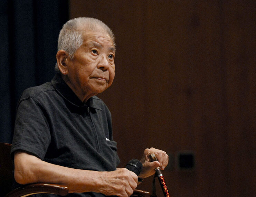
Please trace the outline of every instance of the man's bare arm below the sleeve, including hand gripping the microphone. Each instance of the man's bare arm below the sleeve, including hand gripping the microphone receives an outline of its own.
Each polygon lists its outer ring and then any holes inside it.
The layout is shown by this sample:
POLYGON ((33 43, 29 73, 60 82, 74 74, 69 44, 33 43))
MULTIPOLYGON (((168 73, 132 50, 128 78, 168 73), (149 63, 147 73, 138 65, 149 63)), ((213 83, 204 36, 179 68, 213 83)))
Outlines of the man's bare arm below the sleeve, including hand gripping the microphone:
POLYGON ((126 168, 112 172, 81 170, 50 164, 25 152, 14 156, 15 180, 19 184, 56 183, 69 188, 69 193, 96 192, 121 197, 130 196, 138 177, 126 168))

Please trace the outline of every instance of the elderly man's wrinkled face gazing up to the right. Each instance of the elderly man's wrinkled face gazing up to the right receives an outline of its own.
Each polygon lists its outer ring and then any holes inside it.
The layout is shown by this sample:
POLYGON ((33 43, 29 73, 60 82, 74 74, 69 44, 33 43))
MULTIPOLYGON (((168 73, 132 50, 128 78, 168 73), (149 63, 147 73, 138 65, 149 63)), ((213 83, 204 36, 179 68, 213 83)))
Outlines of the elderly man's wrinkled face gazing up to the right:
POLYGON ((106 33, 83 33, 83 45, 68 58, 68 85, 84 101, 106 90, 115 76, 115 46, 106 33))

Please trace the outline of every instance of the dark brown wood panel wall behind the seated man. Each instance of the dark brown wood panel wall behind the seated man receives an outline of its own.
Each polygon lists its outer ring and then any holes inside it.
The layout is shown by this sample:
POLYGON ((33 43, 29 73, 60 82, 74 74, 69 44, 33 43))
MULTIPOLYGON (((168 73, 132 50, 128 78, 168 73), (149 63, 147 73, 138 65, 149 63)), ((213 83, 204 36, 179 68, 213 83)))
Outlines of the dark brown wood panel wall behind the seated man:
MULTIPOLYGON (((155 147, 170 156, 172 197, 256 194, 255 8, 253 0, 70 0, 70 18, 98 18, 116 36, 115 81, 98 96, 112 112, 120 167, 155 147), (192 170, 177 167, 186 151, 192 170)), ((152 179, 139 188, 151 190, 152 179)))

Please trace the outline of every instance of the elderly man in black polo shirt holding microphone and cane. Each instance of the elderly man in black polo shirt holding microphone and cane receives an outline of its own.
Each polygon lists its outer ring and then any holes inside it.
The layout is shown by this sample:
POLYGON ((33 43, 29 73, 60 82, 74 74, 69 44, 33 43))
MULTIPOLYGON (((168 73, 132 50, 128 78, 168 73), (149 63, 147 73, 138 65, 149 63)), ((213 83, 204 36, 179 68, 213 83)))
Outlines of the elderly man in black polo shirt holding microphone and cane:
POLYGON ((112 31, 97 19, 70 20, 60 31, 56 58, 53 80, 25 90, 19 100, 11 150, 15 180, 63 184, 70 196, 130 196, 138 178, 167 166, 168 155, 145 149, 139 177, 116 168, 111 114, 95 96, 114 80, 112 31), (150 161, 151 153, 158 162, 150 161))

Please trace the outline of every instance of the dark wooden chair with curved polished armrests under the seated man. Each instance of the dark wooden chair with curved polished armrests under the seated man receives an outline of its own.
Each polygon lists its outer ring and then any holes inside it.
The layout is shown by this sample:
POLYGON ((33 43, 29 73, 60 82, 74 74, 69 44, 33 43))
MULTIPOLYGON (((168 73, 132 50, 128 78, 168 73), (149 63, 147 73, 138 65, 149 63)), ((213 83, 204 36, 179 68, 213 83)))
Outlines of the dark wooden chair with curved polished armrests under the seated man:
MULTIPOLYGON (((25 197, 33 194, 57 194, 66 196, 68 187, 51 183, 28 184, 12 190, 13 162, 10 157, 11 144, 0 143, 0 196, 4 197, 25 197)), ((135 189, 133 197, 150 197, 150 193, 135 189)))

